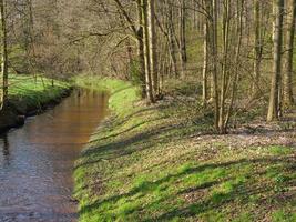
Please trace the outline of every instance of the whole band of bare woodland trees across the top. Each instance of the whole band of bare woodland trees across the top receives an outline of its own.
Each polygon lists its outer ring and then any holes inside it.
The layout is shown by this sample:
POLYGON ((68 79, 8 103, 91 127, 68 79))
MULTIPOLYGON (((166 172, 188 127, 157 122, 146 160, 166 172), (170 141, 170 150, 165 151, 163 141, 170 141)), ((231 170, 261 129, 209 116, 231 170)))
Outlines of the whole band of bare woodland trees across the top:
POLYGON ((162 98, 166 80, 198 80, 198 97, 220 133, 256 101, 265 102, 268 121, 294 104, 296 0, 6 3, 2 73, 9 64, 17 73, 127 79, 147 103, 162 98))

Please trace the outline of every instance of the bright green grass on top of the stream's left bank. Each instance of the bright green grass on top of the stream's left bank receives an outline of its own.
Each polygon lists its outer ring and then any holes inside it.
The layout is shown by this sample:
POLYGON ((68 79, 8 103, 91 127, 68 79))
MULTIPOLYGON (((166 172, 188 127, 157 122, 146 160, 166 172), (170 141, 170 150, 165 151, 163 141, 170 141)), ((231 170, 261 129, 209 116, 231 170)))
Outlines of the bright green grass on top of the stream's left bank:
POLYGON ((9 98, 10 100, 22 101, 29 107, 39 107, 58 99, 69 90, 70 84, 54 81, 51 85, 51 79, 38 75, 9 75, 9 98))

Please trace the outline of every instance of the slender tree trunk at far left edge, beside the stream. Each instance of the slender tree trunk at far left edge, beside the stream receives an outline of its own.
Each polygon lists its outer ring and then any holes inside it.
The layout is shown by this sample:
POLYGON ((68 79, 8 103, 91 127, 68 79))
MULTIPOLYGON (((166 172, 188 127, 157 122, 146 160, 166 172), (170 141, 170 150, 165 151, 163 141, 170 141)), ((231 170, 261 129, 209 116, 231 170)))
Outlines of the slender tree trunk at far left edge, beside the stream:
POLYGON ((1 75, 2 75, 2 93, 1 93, 1 109, 6 107, 8 99, 8 43, 7 43, 7 21, 6 21, 6 1, 0 0, 0 16, 1 16, 1 75))

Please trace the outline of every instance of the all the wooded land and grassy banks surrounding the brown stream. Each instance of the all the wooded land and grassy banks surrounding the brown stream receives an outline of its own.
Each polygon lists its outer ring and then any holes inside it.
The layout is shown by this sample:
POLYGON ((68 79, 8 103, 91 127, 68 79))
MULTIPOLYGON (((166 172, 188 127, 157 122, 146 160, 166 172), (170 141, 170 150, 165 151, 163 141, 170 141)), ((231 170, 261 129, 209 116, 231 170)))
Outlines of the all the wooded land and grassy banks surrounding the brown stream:
POLYGON ((52 100, 37 82, 109 93, 74 167, 80 221, 296 220, 296 0, 0 7, 2 113, 52 100))

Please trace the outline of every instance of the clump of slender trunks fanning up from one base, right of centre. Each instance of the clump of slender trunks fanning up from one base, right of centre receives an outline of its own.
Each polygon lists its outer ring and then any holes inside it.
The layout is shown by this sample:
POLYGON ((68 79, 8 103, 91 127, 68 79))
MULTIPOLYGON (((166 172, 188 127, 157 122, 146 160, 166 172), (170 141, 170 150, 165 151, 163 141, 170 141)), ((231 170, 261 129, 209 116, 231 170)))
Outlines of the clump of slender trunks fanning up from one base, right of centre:
MULTIPOLYGON (((203 102, 207 100, 207 77, 211 80, 211 100, 215 113, 215 128, 226 133, 237 97, 241 52, 243 46, 244 0, 204 1, 204 67, 203 102), (220 36, 218 27, 222 27, 220 36), (221 38, 221 40, 218 39, 221 38), (218 46, 218 42, 222 42, 218 46), (211 53, 208 53, 211 52, 211 53), (221 73, 221 74, 218 74, 221 73)), ((200 7, 201 8, 201 7, 200 7)))

